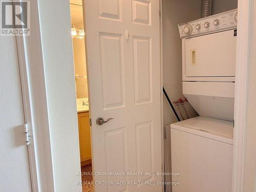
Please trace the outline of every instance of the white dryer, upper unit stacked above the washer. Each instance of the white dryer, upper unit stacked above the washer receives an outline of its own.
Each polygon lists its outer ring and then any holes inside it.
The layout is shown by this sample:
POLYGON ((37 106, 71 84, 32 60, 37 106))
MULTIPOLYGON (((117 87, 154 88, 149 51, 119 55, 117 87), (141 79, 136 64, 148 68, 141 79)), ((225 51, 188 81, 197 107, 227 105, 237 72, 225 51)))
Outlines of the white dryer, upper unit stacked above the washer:
POLYGON ((183 94, 201 116, 233 121, 237 9, 180 24, 179 31, 183 94))

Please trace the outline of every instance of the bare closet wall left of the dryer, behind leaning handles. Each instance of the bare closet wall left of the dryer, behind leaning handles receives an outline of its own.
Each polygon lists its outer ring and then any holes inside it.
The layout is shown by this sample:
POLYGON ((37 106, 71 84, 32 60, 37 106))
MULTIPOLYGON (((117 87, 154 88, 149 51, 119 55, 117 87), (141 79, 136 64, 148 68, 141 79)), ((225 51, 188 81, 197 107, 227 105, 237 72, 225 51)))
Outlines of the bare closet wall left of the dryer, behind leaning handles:
MULTIPOLYGON (((201 16, 201 0, 163 0, 163 86, 170 100, 184 99, 182 94, 182 52, 178 24, 201 16)), ((193 107, 186 103, 190 117, 197 116, 193 107)), ((177 121, 166 98, 163 98, 164 125, 177 121)), ((178 110, 176 109, 178 112, 178 110)), ((183 111, 182 111, 183 112, 183 111)), ((185 113, 183 112, 183 116, 185 113)), ((181 118, 180 118, 181 119, 181 118)))

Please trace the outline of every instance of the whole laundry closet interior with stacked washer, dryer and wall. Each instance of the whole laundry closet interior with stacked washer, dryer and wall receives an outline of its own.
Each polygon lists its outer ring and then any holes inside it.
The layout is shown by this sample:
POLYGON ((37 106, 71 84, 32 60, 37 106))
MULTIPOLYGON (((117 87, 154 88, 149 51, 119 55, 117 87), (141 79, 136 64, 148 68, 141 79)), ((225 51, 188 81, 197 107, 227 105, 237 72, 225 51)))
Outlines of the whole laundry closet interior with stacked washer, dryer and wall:
POLYGON ((165 191, 231 191, 237 3, 162 1, 165 191))

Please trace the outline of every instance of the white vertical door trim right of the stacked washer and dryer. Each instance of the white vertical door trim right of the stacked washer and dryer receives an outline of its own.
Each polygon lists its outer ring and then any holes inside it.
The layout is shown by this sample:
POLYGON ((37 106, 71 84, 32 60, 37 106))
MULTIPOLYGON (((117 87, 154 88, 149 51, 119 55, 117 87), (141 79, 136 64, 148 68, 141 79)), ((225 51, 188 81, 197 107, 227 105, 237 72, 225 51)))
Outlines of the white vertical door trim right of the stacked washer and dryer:
POLYGON ((238 1, 238 15, 232 192, 244 189, 251 0, 238 1))

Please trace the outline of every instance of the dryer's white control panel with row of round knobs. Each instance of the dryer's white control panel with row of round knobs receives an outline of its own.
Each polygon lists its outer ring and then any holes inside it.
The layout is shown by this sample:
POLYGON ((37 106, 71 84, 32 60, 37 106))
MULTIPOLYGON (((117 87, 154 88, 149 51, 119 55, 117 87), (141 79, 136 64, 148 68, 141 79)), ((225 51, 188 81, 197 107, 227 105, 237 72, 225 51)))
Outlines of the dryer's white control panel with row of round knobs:
POLYGON ((216 15, 200 18, 186 24, 179 24, 180 37, 214 33, 237 28, 238 10, 232 9, 216 15))

